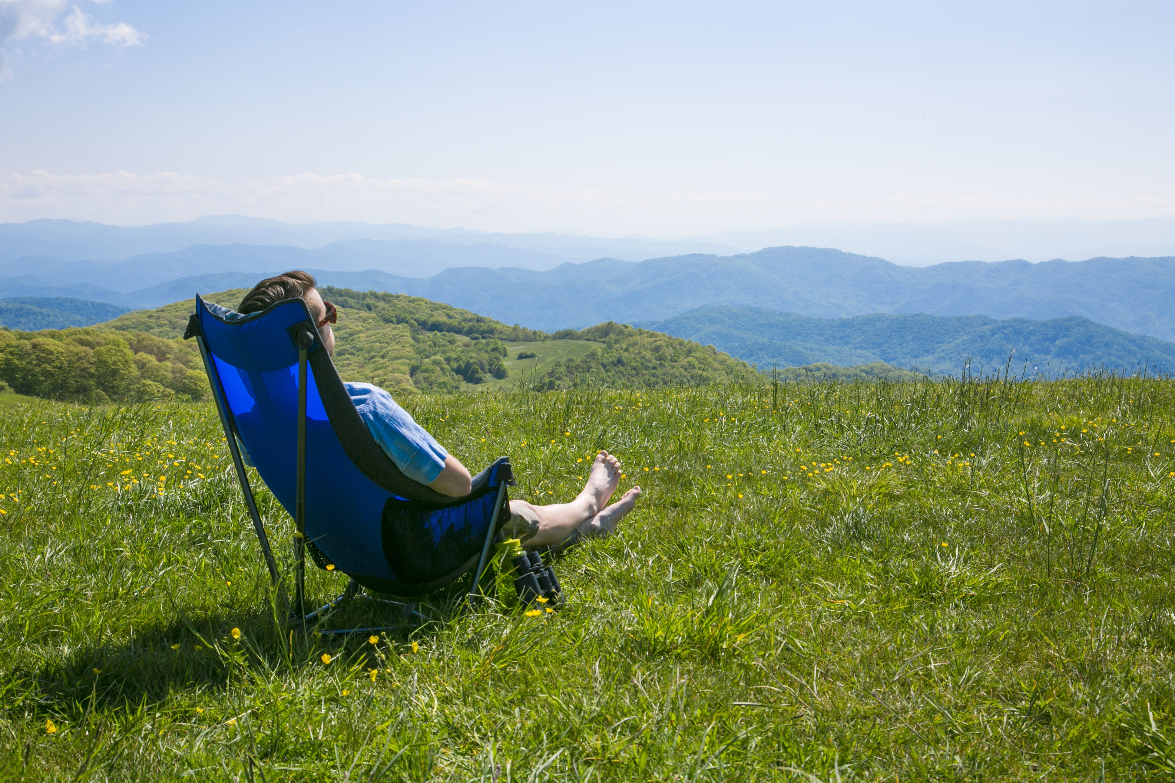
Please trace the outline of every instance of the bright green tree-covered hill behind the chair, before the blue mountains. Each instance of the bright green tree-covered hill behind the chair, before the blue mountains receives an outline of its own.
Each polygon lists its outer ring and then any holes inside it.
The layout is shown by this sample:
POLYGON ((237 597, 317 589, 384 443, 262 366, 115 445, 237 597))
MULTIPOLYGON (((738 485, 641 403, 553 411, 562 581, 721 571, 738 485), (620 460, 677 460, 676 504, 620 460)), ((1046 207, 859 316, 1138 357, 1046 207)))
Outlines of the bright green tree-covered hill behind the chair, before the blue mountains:
MULTIPOLYGON (((244 293, 207 298, 231 308, 244 293)), ((397 394, 756 379, 744 362, 711 346, 615 323, 548 335, 416 297, 329 286, 322 293, 338 308, 340 374, 397 394)), ((190 301, 176 302, 89 329, 0 329, 0 384, 60 399, 200 399, 207 393, 200 359, 180 339, 192 309, 190 301)))

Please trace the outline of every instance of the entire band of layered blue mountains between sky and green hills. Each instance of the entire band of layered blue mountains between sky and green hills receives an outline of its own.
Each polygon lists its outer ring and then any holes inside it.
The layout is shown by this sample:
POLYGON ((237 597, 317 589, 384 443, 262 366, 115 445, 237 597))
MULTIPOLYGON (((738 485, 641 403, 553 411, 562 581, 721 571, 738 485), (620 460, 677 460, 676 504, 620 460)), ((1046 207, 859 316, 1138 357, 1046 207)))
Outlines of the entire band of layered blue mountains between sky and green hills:
MULTIPOLYGON (((1035 223, 999 223, 855 229, 811 223, 788 231, 832 231, 846 241, 881 231, 899 244, 919 232, 946 241, 962 231, 980 244, 991 235, 993 242, 1019 237, 1027 247, 1041 230, 1035 223)), ((1173 228, 1161 220, 1070 223, 1047 228, 1085 231, 1082 241, 1129 235, 1160 244, 1173 228)), ((233 215, 136 228, 4 223, 0 297, 8 298, 0 304, 0 324, 86 325, 126 309, 248 288, 271 274, 306 269, 322 285, 408 293, 548 332, 640 324, 712 343, 760 367, 777 360, 884 362, 954 373, 966 356, 992 367, 1012 349, 1015 363, 1048 372, 1148 359, 1175 367, 1173 347, 1162 342, 1175 342, 1175 257, 901 266, 826 248, 736 250, 787 234, 780 231, 662 242, 400 224, 293 225, 233 215)))

